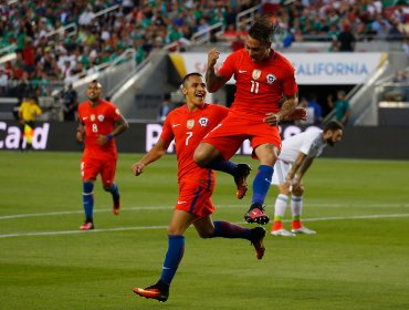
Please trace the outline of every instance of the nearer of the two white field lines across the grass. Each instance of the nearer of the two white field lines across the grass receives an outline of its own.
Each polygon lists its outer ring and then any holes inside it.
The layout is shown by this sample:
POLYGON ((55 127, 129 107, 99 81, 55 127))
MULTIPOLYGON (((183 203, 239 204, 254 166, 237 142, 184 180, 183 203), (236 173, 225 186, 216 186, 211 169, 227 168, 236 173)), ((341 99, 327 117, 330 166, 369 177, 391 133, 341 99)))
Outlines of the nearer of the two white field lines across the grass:
MULTIPOLYGON (((356 215, 356 216, 317 217, 317 218, 305 218, 305 219, 303 219, 303 221, 345 220, 345 219, 373 219, 373 218, 397 218, 397 217, 409 217, 409 214, 385 214, 385 215, 356 215)), ((284 220, 284 221, 290 221, 290 220, 284 220)), ((237 224, 242 224, 242 223, 237 223, 237 224)), ((165 229, 166 227, 167 226, 136 226, 136 227, 118 227, 118 228, 94 229, 94 230, 88 230, 88 231, 62 230, 62 231, 43 231, 43 232, 21 232, 21 234, 0 235, 0 238, 30 237, 30 236, 55 236, 55 235, 90 234, 90 232, 94 234, 94 232, 126 231, 126 230, 165 229)))

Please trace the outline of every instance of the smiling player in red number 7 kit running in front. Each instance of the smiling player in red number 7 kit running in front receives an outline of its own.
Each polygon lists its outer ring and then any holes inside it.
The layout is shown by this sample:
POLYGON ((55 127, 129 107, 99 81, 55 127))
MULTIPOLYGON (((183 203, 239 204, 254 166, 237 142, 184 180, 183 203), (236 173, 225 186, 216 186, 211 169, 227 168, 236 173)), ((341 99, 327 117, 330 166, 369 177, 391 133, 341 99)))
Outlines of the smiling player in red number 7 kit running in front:
MULTIPOLYGON (((200 73, 187 74, 182 81, 181 92, 186 96, 186 104, 168 114, 156 145, 132 166, 133 174, 140 175, 145 166, 166 154, 170 142, 175 140, 179 196, 167 229, 168 251, 164 268, 156 285, 134 289, 134 292, 139 296, 162 302, 168 299, 170 282, 183 256, 183 234, 190 225, 195 226, 201 238, 247 239, 254 246, 258 259, 262 259, 264 255, 264 228, 250 229, 229 221, 211 219, 211 214, 214 211, 211 200, 214 173, 208 168, 200 168, 193 162, 193 153, 200 141, 226 117, 229 110, 204 103, 206 83, 200 73)), ((231 165, 235 164, 231 163, 231 165)))

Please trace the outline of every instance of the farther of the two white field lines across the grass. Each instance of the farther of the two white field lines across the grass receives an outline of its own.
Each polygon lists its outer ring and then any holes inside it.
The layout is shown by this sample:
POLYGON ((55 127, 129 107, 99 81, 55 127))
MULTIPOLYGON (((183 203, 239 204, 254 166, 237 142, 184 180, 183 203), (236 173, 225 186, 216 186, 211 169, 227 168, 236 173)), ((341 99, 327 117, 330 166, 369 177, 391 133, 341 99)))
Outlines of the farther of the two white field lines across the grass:
MULTIPOLYGON (((223 208, 238 208, 243 207, 243 205, 216 205, 218 209, 223 208)), ((354 207, 354 208, 409 208, 409 204, 308 204, 308 207, 313 208, 343 208, 343 207, 354 207)), ((151 207, 129 207, 126 208, 126 211, 139 211, 139 210, 171 210, 172 205, 168 206, 151 206, 151 207)), ((124 210, 124 209, 123 209, 124 210)), ((73 214, 83 214, 82 209, 71 210, 71 211, 55 211, 55 213, 35 213, 35 214, 15 214, 15 215, 4 215, 0 216, 2 219, 13 219, 13 218, 24 218, 24 217, 41 217, 41 216, 61 216, 61 215, 73 215, 73 214)), ((112 213, 112 209, 94 209, 94 213, 112 213)))

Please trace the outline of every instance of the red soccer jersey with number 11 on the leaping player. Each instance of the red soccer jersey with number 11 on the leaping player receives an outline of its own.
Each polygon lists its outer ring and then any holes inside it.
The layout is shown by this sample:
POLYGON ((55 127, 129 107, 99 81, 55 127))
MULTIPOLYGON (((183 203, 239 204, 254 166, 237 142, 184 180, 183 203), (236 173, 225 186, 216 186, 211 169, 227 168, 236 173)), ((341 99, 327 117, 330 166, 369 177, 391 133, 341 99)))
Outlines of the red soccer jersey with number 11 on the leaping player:
POLYGON ((245 49, 233 52, 218 74, 228 80, 234 74, 237 91, 230 110, 256 121, 265 113, 277 113, 283 94, 289 96, 298 91, 294 66, 275 51, 263 63, 252 62, 245 49))

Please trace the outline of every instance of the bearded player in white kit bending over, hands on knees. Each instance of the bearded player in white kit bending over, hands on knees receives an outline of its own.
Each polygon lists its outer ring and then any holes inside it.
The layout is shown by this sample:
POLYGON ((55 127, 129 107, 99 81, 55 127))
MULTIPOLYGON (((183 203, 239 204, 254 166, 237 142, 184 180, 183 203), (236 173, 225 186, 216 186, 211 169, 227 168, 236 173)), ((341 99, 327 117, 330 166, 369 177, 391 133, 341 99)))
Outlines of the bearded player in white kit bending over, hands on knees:
POLYGON ((302 178, 314 158, 319 156, 326 145, 334 146, 343 137, 343 125, 331 121, 321 131, 306 131, 285 138, 279 161, 274 165, 272 184, 279 188, 274 207, 274 224, 271 234, 274 236, 294 237, 295 234, 314 235, 315 231, 301 223, 304 186, 302 178), (291 195, 292 225, 291 232, 283 228, 283 217, 291 195))

